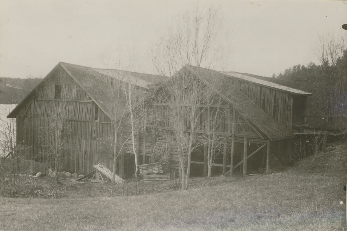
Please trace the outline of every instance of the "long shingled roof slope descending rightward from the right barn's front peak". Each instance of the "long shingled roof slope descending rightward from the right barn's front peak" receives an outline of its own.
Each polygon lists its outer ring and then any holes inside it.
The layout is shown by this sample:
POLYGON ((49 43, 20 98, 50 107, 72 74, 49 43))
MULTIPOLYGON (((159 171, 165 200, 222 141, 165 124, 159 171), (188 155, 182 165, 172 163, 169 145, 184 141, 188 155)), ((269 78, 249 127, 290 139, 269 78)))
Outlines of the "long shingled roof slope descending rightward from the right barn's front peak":
POLYGON ((270 140, 295 137, 293 132, 266 114, 255 103, 249 100, 246 95, 237 89, 233 89, 233 85, 235 84, 230 78, 230 75, 202 67, 196 68, 190 65, 186 65, 184 68, 197 74, 206 84, 230 102, 246 120, 252 122, 268 136, 270 140))

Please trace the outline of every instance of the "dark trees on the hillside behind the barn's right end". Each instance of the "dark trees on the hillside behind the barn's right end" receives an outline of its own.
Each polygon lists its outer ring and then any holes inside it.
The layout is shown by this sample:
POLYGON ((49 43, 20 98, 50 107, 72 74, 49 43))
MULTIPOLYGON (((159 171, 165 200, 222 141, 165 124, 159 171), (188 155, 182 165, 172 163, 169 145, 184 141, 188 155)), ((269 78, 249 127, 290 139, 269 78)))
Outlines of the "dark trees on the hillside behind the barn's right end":
POLYGON ((347 50, 341 55, 326 57, 322 56, 320 65, 298 64, 272 77, 301 83, 300 90, 313 94, 307 98, 306 123, 317 128, 346 129, 347 50))

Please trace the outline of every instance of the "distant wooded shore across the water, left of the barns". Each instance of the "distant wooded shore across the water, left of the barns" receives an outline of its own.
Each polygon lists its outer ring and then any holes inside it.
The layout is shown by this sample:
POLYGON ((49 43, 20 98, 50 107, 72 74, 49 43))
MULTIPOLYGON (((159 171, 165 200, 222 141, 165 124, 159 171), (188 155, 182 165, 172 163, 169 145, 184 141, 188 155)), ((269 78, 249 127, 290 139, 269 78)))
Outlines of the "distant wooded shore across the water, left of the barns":
POLYGON ((0 104, 18 104, 42 78, 0 77, 0 104))

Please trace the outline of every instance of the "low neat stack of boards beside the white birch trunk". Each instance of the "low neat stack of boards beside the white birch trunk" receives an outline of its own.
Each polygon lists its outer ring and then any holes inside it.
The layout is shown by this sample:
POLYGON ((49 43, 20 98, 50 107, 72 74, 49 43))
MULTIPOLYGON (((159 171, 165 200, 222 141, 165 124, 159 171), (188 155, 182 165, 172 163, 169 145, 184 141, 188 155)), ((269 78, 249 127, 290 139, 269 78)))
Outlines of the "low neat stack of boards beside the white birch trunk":
POLYGON ((175 173, 164 173, 161 163, 143 164, 138 167, 144 182, 166 181, 175 178, 175 173))

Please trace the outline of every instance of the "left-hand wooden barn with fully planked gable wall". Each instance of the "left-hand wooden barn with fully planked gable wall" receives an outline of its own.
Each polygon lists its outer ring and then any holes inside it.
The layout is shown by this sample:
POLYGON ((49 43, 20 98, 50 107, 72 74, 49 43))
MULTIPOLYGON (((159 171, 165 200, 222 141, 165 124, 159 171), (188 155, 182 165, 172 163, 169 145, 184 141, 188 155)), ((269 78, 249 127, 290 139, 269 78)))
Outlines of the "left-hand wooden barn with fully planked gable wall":
MULTIPOLYGON (((50 161, 50 147, 46 145, 48 141, 45 137, 49 126, 45 124, 45 118, 54 118, 54 113, 63 105, 69 135, 66 137, 68 148, 61 169, 86 174, 94 170, 92 166, 98 162, 112 169, 113 158, 101 155, 99 150, 103 142, 114 137, 111 119, 114 101, 111 93, 115 81, 120 77, 122 81, 144 90, 148 89, 147 85, 164 78, 60 62, 7 116, 17 120, 16 143, 27 147, 18 150, 18 155, 38 162, 50 161)), ((124 102, 119 102, 122 104, 119 108, 125 109, 124 102)), ((136 147, 143 143, 143 137, 141 141, 138 138, 136 147)), ((126 148, 133 153, 129 143, 126 148)), ((133 175, 133 159, 131 155, 126 155, 126 151, 119 157, 117 165, 117 174, 133 175)))

